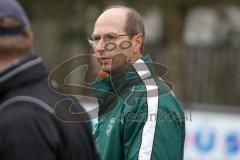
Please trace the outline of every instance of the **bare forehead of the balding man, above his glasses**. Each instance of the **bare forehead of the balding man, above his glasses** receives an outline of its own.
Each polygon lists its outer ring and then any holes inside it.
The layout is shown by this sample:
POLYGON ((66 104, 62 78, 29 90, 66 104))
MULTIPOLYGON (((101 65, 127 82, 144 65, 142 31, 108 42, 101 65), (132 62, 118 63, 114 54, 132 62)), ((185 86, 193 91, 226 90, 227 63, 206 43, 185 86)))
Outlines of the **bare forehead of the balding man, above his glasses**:
POLYGON ((103 12, 97 19, 93 35, 103 35, 107 33, 125 33, 125 23, 127 20, 127 10, 123 8, 113 8, 103 12))

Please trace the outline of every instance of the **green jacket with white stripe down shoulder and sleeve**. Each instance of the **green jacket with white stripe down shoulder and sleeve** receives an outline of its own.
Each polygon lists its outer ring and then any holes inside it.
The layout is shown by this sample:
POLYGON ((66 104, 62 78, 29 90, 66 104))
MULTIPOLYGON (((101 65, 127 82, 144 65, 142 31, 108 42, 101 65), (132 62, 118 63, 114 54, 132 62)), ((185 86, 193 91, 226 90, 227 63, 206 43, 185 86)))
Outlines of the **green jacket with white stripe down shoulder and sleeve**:
POLYGON ((182 160, 184 113, 148 55, 93 85, 99 101, 95 142, 102 160, 182 160))

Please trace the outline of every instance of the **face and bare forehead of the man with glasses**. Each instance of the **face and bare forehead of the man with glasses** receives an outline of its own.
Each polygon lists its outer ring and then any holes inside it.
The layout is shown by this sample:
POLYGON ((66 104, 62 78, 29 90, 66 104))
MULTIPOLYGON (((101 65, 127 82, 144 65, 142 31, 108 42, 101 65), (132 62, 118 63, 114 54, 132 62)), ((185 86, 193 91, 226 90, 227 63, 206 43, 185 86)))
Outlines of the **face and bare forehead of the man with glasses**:
POLYGON ((124 31, 126 19, 125 9, 114 8, 101 14, 95 23, 93 49, 102 70, 108 73, 121 72, 133 59, 132 41, 124 31))

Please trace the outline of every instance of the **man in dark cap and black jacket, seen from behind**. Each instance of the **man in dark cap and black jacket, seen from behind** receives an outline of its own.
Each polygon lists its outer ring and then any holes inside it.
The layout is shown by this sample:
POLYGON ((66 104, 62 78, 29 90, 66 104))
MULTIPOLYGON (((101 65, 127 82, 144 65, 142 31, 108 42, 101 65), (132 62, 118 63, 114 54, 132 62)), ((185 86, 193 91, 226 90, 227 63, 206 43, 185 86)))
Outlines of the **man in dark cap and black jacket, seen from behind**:
MULTIPOLYGON (((99 159, 87 123, 67 123, 54 106, 42 59, 28 54, 32 32, 15 0, 0 0, 0 159, 99 159)), ((69 97, 70 98, 70 97, 69 97)), ((73 109, 83 111, 75 103, 73 109)))

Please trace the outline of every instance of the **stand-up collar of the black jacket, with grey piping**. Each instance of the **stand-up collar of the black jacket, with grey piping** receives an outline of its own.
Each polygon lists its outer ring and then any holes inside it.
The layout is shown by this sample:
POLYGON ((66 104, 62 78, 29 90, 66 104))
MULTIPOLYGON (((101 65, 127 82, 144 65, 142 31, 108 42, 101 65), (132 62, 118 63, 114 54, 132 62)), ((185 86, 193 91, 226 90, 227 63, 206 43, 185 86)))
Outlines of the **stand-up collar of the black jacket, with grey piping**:
POLYGON ((29 54, 9 64, 0 72, 0 94, 4 94, 23 83, 45 78, 47 74, 42 59, 29 54))

